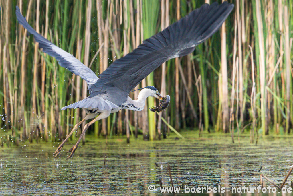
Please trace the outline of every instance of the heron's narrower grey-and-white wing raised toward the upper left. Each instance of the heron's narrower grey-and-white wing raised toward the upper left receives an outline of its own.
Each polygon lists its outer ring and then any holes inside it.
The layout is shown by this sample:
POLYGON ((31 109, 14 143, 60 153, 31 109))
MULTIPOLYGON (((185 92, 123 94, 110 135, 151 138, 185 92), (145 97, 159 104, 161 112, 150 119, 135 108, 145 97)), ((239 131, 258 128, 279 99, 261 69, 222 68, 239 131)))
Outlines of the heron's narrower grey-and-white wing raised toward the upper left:
POLYGON ((28 24, 23 15, 21 15, 18 6, 16 6, 16 17, 18 22, 25 29, 27 29, 30 34, 33 34, 35 41, 39 42, 40 48, 43 48, 43 52, 49 54, 52 57, 55 57, 60 66, 67 68, 75 75, 80 76, 83 80, 86 81, 86 83, 88 84, 88 88, 90 88, 92 84, 97 82, 98 77, 95 73, 93 73, 93 71, 91 71, 90 68, 85 66, 70 53, 55 46, 53 43, 37 33, 37 31, 35 31, 35 29, 33 29, 28 24))

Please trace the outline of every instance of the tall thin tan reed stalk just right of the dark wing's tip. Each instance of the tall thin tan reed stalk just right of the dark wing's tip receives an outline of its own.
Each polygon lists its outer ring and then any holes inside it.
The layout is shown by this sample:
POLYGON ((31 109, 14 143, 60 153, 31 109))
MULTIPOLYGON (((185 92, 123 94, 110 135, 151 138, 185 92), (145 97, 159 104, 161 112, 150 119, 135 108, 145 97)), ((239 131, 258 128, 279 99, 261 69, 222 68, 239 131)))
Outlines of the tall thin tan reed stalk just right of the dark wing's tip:
MULTIPOLYGON (((242 10, 243 12, 243 10, 242 10)), ((237 76, 237 79, 239 79, 239 106, 240 106, 240 122, 241 122, 241 126, 242 126, 242 122, 244 119, 243 116, 243 60, 242 60, 242 45, 241 45, 241 38, 242 38, 242 31, 241 31, 241 24, 244 23, 244 21, 241 21, 240 19, 240 4, 239 4, 239 0, 236 1, 236 17, 237 17, 237 26, 238 26, 238 56, 239 56, 239 67, 238 67, 238 71, 239 71, 239 76, 237 76)), ((231 107, 231 105, 230 105, 231 107)), ((238 121, 237 121, 238 122, 238 121)))

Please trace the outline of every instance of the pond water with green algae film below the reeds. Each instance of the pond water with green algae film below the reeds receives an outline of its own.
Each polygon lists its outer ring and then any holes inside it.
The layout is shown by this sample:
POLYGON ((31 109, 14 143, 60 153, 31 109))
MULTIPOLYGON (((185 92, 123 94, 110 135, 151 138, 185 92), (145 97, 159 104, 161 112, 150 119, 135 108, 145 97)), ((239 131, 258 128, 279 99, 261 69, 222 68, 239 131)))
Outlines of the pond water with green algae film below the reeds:
MULTIPOLYGON (((207 186, 225 192, 203 190, 201 195, 235 195, 233 187, 258 187, 261 174, 280 186, 293 164, 291 135, 266 136, 257 145, 249 142, 248 135, 241 136, 240 143, 235 138, 235 144, 229 134, 199 138, 198 132, 184 131, 182 135, 185 140, 172 133, 164 140, 131 139, 130 144, 124 136, 106 143, 87 135, 86 144, 69 160, 66 151, 75 141, 64 145, 56 159, 52 153, 59 143, 0 147, 0 195, 168 195, 160 192, 160 183, 171 187, 168 165, 174 187, 181 187, 176 195, 193 195, 195 188, 207 186), (150 185, 155 190, 150 191, 150 185)), ((289 176, 287 188, 291 180, 289 176)), ((269 185, 274 187, 263 180, 264 187, 269 185)), ((237 195, 247 195, 241 189, 237 195)), ((260 195, 275 194, 267 190, 260 195)))

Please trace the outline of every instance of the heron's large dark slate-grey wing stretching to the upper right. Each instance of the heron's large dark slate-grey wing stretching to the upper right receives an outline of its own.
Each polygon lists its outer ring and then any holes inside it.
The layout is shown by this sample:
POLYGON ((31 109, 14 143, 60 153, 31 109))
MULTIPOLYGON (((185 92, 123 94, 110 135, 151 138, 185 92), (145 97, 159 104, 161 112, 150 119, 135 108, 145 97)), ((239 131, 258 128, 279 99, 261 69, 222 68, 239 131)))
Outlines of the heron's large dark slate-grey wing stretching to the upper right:
POLYGON ((113 101, 117 100, 115 104, 119 104, 117 97, 128 96, 135 86, 163 62, 191 53, 196 45, 218 31, 233 8, 234 5, 226 1, 221 5, 216 2, 202 5, 143 41, 131 53, 114 61, 91 86, 92 92, 98 94, 104 91, 108 96, 113 96, 113 101))

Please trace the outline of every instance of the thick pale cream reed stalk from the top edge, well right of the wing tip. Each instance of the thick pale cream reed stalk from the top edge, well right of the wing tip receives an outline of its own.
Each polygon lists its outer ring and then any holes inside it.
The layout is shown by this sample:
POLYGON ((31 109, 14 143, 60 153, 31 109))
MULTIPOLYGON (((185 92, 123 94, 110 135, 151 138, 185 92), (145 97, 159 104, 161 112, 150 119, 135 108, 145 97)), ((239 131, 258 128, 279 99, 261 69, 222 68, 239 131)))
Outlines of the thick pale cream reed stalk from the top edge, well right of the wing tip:
POLYGON ((261 127, 263 135, 268 134, 268 127, 266 121, 266 90, 265 90, 265 49, 263 42, 263 21, 260 11, 260 0, 255 1, 256 5, 256 19, 258 26, 258 44, 260 51, 259 66, 260 66, 260 104, 261 104, 261 127))

